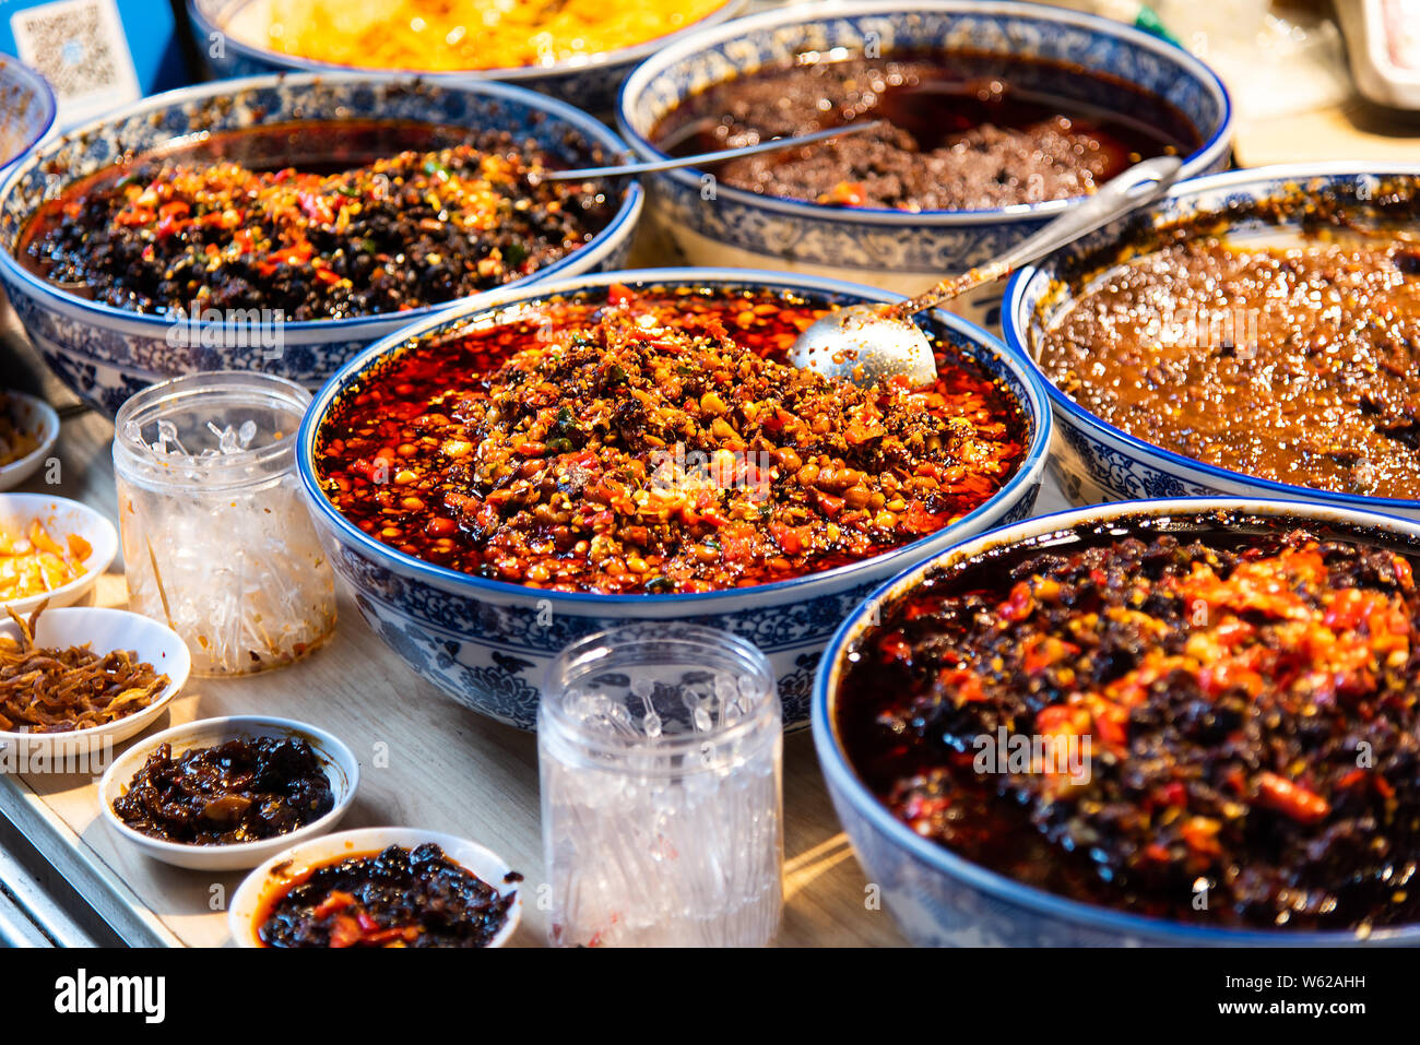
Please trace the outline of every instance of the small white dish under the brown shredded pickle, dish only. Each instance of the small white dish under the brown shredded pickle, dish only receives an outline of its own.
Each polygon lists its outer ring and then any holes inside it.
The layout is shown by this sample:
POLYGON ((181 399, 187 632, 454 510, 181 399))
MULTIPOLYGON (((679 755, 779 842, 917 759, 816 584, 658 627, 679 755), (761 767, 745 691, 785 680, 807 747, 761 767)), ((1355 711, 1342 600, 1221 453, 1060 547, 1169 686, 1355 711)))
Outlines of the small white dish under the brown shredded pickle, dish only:
MULTIPOLYGON (((14 620, 4 618, 0 622, 0 635, 18 639, 20 628, 14 620)), ((101 656, 115 649, 132 650, 139 662, 148 662, 158 674, 168 676, 168 687, 148 707, 104 726, 68 733, 0 733, 0 751, 13 753, 24 758, 26 764, 34 764, 38 758, 89 760, 95 754, 112 750, 121 740, 146 730, 178 696, 192 672, 187 645, 170 628, 142 613, 99 606, 65 606, 47 609, 40 615, 34 635, 36 646, 68 649, 85 643, 101 656)), ((53 768, 65 770, 65 767, 53 768)))

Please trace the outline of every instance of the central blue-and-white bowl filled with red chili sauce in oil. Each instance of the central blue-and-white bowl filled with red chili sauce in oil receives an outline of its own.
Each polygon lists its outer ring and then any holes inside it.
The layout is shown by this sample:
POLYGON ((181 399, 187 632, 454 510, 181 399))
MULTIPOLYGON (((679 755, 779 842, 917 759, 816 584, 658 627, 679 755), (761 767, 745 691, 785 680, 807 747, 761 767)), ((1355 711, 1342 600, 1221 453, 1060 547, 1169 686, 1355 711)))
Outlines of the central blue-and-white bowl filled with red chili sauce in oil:
POLYGON ((922 393, 780 362, 815 315, 890 297, 665 268, 426 319, 308 410, 297 460, 317 528, 376 635, 494 718, 532 728, 552 657, 650 619, 755 643, 802 727, 818 655, 859 599, 1028 515, 1044 471, 1039 389, 964 319, 923 321, 941 378, 922 393))

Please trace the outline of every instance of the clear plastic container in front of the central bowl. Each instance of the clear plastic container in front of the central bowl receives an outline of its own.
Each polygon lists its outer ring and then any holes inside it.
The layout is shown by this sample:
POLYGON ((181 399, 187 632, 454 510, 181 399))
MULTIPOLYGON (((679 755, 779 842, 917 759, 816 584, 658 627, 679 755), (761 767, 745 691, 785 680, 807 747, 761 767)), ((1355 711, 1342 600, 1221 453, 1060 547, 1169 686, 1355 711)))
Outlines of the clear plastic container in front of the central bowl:
POLYGON ((770 943, 782 751, 772 672, 743 639, 636 623, 568 646, 538 708, 551 941, 770 943))

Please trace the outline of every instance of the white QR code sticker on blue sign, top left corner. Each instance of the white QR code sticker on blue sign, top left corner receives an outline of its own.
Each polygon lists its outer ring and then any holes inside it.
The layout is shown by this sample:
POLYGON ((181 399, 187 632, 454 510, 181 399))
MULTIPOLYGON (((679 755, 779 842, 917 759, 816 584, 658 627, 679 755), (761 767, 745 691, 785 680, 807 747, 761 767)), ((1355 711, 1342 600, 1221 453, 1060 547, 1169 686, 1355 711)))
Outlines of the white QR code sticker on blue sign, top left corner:
POLYGON ((57 0, 10 16, 20 60, 60 99, 65 124, 141 97, 115 0, 57 0))

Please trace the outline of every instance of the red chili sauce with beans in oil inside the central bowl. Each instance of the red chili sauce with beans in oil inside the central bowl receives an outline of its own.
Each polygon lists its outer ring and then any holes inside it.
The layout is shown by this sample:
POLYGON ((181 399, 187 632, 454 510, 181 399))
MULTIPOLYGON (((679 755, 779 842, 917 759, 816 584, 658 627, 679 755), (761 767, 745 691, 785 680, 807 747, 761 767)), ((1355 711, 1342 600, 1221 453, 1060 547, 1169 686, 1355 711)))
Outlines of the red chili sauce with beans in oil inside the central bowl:
POLYGON ((416 344, 334 403, 317 473, 355 525, 477 576, 697 592, 936 532, 1017 471, 1018 403, 939 348, 929 389, 781 362, 826 310, 768 291, 559 298, 416 344))

